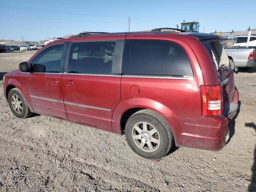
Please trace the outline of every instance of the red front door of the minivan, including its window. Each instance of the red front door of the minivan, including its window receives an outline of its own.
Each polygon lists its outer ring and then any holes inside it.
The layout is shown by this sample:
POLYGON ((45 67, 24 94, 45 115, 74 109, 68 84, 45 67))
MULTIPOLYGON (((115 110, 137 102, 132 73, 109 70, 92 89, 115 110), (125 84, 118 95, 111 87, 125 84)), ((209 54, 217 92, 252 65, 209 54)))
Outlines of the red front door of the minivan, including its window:
POLYGON ((62 74, 66 44, 50 46, 31 61, 26 88, 35 112, 66 119, 62 74))

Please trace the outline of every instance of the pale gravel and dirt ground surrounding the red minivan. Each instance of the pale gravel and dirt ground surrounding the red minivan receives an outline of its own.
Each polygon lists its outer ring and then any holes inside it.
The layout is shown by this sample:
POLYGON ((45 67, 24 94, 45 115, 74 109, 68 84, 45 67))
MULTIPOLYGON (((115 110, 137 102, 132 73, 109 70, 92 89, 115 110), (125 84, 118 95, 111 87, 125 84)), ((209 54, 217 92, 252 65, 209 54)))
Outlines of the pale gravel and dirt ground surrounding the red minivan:
POLYGON ((34 115, 19 119, 2 76, 34 51, 0 54, 0 191, 256 191, 256 68, 235 75, 240 112, 220 152, 137 156, 125 136, 34 115))

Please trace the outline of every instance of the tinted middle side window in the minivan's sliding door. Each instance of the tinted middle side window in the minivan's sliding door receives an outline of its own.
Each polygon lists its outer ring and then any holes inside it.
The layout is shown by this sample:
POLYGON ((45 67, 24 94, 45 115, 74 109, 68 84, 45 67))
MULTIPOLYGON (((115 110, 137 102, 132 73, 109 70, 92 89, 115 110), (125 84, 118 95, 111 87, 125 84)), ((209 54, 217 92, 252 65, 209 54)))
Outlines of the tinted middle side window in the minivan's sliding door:
POLYGON ((68 73, 112 74, 116 42, 72 43, 68 57, 68 73))

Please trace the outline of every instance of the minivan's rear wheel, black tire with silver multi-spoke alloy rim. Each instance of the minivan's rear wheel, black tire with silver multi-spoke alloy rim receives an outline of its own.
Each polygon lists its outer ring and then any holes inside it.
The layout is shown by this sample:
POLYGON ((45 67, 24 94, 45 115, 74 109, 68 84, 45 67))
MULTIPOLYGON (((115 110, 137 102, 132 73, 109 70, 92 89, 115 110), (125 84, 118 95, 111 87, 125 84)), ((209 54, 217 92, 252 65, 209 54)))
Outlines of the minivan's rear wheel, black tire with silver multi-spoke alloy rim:
POLYGON ((165 156, 174 143, 174 136, 166 120, 152 110, 140 110, 126 122, 126 140, 132 150, 147 159, 165 156))

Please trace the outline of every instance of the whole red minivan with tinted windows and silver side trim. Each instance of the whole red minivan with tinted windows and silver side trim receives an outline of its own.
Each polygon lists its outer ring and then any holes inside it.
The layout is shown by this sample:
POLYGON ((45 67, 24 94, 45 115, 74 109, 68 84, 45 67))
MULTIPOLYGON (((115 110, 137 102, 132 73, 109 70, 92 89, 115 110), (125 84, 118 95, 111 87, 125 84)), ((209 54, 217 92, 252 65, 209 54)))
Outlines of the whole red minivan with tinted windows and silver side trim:
POLYGON ((13 114, 33 113, 125 134, 138 155, 172 146, 221 150, 238 109, 218 36, 83 33, 51 42, 4 76, 13 114))

